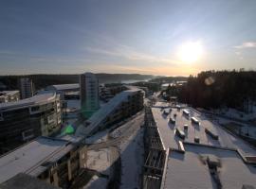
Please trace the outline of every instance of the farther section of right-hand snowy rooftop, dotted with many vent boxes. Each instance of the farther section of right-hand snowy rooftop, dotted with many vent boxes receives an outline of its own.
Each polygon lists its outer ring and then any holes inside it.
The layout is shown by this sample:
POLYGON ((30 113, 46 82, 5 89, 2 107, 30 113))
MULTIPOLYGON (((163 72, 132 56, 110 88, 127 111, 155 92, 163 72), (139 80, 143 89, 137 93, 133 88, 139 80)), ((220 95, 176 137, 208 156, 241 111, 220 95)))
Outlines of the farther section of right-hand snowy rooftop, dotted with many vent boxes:
POLYGON ((168 115, 164 115, 164 110, 167 112, 170 108, 164 109, 160 107, 152 108, 153 116, 156 122, 156 127, 158 129, 160 138, 162 140, 165 149, 168 147, 178 148, 178 141, 185 141, 194 143, 194 138, 198 137, 200 144, 209 146, 221 146, 239 149, 242 154, 247 156, 255 156, 256 148, 248 145, 242 139, 230 134, 217 123, 211 122, 204 114, 193 110, 192 108, 187 108, 190 112, 190 116, 185 116, 181 109, 178 111, 176 108, 172 108, 172 112, 168 115), (174 118, 176 114, 175 124, 169 123, 170 117, 174 118), (199 122, 199 126, 192 124, 191 117, 195 117, 199 122), (188 125, 188 129, 184 129, 184 125, 188 125), (177 136, 176 130, 181 129, 185 133, 185 139, 181 139, 177 136), (218 135, 218 140, 212 139, 212 137, 206 133, 205 129, 210 129, 213 133, 218 135))

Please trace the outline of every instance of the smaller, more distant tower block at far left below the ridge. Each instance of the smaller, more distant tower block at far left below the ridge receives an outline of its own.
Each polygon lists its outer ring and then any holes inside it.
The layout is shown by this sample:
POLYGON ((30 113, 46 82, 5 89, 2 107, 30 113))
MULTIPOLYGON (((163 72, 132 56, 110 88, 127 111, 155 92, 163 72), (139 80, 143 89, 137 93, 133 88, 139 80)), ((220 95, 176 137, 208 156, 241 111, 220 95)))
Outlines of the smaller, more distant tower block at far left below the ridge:
POLYGON ((20 79, 20 90, 21 98, 25 99, 31 97, 34 94, 34 85, 30 78, 21 78, 20 79))

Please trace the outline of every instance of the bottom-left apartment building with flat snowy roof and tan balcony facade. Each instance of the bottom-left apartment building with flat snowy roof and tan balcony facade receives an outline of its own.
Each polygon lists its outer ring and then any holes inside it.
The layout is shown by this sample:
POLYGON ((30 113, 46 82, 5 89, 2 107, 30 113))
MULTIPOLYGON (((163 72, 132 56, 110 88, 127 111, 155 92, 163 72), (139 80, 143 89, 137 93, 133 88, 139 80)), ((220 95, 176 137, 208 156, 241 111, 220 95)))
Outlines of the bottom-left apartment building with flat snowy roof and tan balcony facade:
POLYGON ((0 188, 18 173, 69 188, 83 167, 83 148, 63 139, 38 137, 0 158, 0 188))

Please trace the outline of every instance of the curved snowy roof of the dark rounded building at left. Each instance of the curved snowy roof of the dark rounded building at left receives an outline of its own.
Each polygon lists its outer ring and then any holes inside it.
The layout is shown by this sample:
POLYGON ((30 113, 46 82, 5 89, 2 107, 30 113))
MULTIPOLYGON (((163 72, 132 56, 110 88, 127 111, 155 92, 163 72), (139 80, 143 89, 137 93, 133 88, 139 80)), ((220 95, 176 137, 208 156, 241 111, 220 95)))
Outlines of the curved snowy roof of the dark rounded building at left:
POLYGON ((48 101, 53 100, 55 96, 55 93, 37 94, 15 102, 1 103, 0 110, 5 111, 7 109, 19 109, 26 106, 47 103, 48 101))

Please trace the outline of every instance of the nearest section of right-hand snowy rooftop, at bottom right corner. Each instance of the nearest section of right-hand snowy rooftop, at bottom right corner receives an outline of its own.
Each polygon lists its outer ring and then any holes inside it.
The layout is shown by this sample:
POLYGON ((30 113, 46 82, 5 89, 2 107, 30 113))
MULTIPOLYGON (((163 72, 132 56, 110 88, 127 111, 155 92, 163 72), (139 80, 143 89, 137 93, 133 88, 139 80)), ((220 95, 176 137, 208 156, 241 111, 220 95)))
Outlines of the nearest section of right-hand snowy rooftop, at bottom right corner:
POLYGON ((236 151, 191 145, 185 145, 185 150, 184 154, 170 151, 163 188, 217 189, 207 163, 207 158, 212 156, 220 163, 217 171, 222 188, 256 186, 255 165, 244 163, 236 151))

